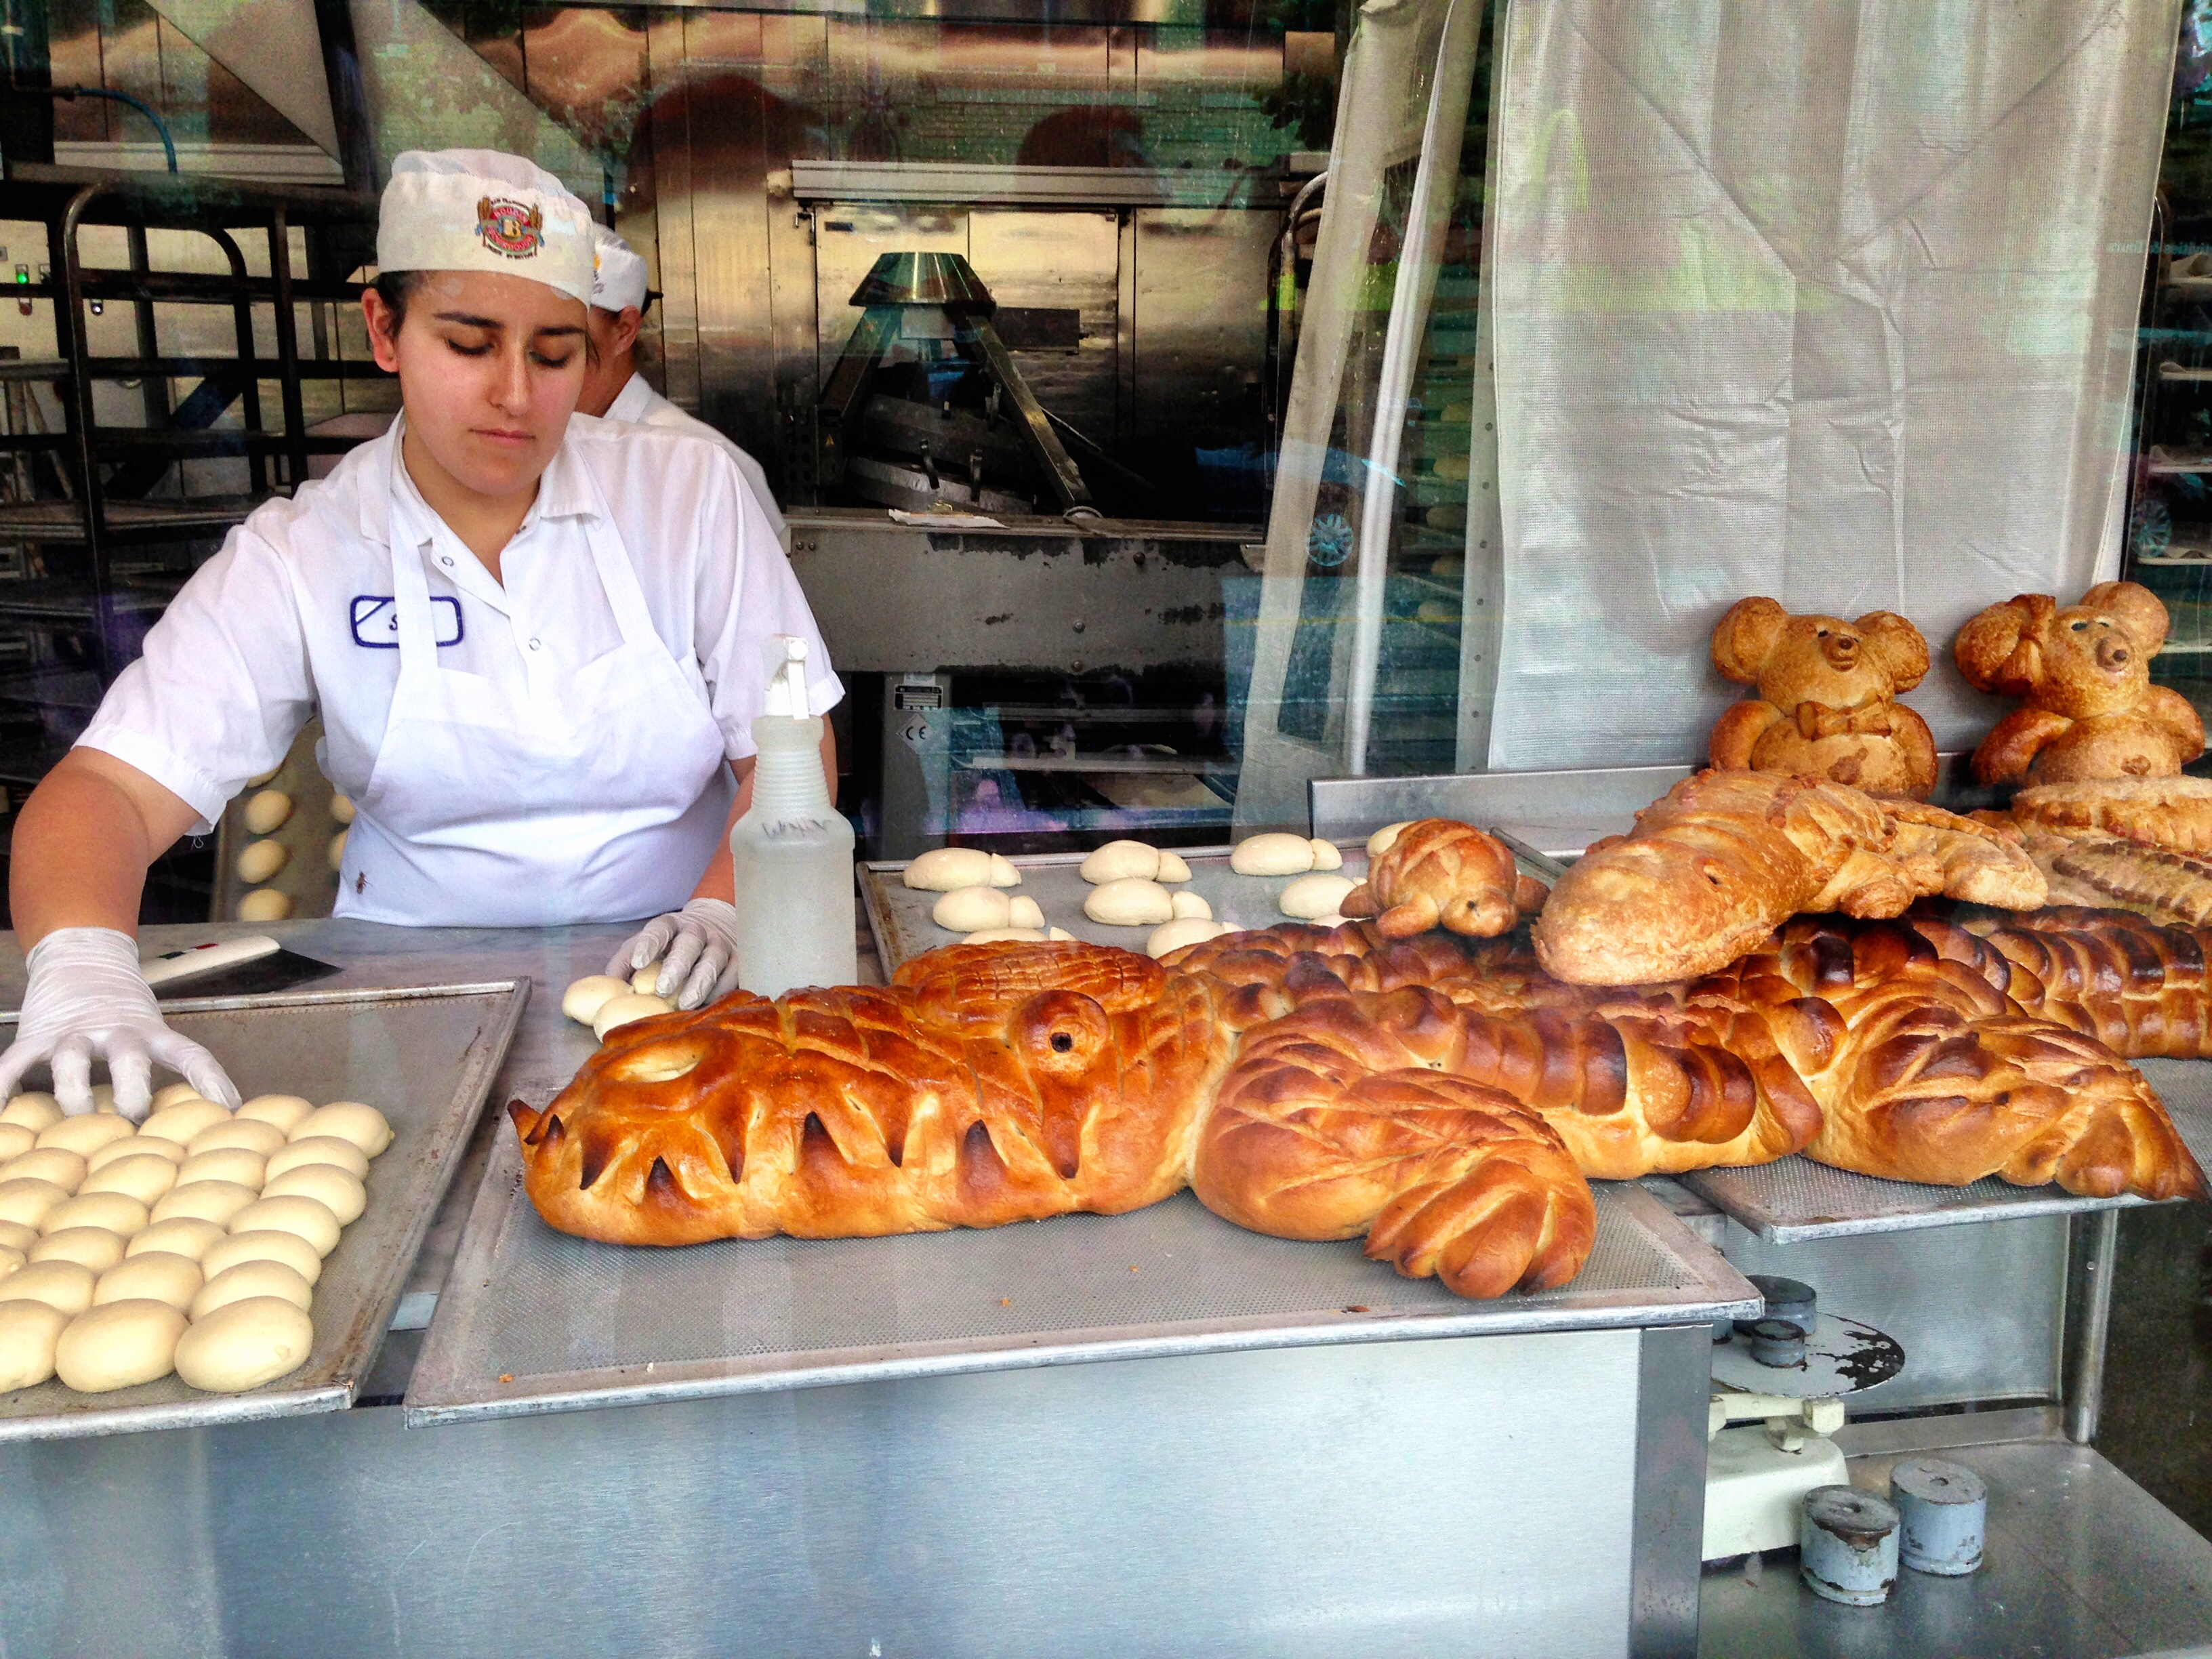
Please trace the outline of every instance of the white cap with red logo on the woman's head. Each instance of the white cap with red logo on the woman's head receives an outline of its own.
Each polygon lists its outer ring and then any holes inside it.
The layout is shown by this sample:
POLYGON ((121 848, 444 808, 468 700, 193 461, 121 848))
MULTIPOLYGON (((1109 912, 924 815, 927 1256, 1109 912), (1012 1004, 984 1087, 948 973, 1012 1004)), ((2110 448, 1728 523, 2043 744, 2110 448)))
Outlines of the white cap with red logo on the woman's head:
POLYGON ((591 303, 591 210, 535 161, 405 150, 376 217, 378 270, 495 270, 591 303))

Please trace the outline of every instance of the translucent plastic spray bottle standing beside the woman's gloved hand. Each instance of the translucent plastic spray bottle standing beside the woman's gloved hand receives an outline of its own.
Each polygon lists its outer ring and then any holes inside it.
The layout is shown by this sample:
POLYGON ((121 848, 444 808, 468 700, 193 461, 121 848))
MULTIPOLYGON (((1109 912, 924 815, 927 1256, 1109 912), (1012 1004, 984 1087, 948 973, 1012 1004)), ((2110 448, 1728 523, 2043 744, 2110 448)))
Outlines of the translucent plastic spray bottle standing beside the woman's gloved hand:
POLYGON ((807 641, 768 641, 768 697, 752 721, 752 805, 730 830, 737 982, 763 998, 852 984, 852 825, 830 801, 823 723, 807 714, 807 641))

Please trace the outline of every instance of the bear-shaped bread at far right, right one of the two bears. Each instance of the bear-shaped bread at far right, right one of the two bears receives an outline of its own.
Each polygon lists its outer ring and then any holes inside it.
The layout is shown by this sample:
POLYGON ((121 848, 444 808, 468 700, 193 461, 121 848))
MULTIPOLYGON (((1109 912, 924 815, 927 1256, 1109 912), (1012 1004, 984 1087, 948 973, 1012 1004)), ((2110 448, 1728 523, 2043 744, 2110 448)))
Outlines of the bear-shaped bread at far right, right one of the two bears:
POLYGON ((2026 703, 1973 752, 1980 783, 2170 779, 2205 748, 2181 692, 2150 684, 2166 606, 2135 582, 2099 582, 2081 604, 2048 593, 1993 604, 1960 628, 1969 681, 2026 703))

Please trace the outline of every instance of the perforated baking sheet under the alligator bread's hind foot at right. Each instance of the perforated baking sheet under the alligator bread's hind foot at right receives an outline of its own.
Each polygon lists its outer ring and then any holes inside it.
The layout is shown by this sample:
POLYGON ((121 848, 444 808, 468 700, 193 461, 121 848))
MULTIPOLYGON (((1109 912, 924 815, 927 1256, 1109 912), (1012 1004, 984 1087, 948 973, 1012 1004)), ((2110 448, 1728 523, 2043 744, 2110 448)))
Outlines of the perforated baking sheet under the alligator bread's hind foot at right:
MULTIPOLYGON (((2203 1060, 2139 1060, 2150 1086, 2166 1099, 2181 1139, 2212 1170, 2212 1064, 2203 1060)), ((1960 1221, 2013 1221, 2031 1214, 2117 1210, 2143 1199, 2077 1199, 2057 1186, 1918 1186, 1878 1181, 1785 1157, 1752 1170, 1699 1170, 1679 1177, 1686 1188, 1725 1210, 1763 1239, 1840 1239, 1854 1232, 1905 1232, 1960 1221)))

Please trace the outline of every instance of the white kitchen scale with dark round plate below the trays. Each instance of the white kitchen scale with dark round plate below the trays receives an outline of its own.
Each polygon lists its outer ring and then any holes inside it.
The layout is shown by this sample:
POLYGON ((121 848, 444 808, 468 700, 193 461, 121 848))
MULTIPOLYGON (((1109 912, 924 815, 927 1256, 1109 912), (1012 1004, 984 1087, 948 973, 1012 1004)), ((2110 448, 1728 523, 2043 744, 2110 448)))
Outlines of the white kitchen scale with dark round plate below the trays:
POLYGON ((1818 1307, 1812 1285, 1752 1274, 1759 1318, 1714 1327, 1705 1422, 1703 1559, 1725 1562, 1798 1542, 1798 1504, 1814 1486, 1849 1486, 1843 1402, 1905 1369, 1905 1349, 1871 1325, 1818 1307))

